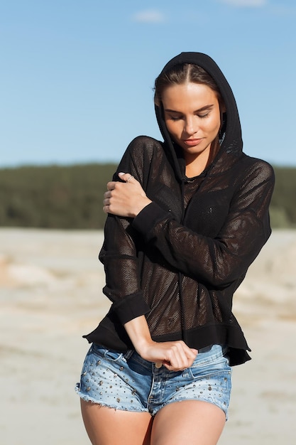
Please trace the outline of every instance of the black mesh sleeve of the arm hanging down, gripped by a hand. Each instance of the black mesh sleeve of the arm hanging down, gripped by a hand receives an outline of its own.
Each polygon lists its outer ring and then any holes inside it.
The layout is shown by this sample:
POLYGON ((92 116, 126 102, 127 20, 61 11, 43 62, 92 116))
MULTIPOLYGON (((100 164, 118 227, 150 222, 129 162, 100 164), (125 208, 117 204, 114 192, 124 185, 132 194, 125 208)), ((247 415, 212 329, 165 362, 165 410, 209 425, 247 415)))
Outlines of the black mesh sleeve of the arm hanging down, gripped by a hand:
MULTIPOLYGON (((144 166, 150 163, 151 142, 152 139, 146 136, 131 141, 114 174, 114 181, 120 181, 118 172, 124 171, 131 173, 142 186, 146 186, 144 166)), ((122 324, 150 311, 141 289, 138 242, 142 242, 142 237, 131 222, 131 218, 108 215, 104 227, 104 244, 99 253, 106 275, 103 292, 111 300, 111 310, 122 324)))

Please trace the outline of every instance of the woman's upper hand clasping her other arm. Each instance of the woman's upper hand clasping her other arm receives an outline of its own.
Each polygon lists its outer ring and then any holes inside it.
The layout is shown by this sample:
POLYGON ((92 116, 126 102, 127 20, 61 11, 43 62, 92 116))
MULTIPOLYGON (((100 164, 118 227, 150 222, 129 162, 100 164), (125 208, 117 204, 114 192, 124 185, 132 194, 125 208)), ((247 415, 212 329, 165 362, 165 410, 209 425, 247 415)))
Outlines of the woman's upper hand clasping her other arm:
POLYGON ((141 184, 130 173, 119 173, 119 177, 125 182, 107 183, 108 191, 104 193, 103 210, 105 213, 135 218, 152 201, 147 198, 141 184))

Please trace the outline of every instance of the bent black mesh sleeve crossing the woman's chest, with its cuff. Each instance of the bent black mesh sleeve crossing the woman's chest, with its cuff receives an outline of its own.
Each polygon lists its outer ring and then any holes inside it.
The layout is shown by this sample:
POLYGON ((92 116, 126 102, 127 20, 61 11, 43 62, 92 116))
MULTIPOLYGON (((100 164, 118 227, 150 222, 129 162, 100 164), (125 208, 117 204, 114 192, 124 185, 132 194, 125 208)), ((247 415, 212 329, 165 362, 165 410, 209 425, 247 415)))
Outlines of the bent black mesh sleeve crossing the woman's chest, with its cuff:
POLYGON ((270 236, 268 206, 273 186, 273 168, 264 161, 253 163, 244 172, 215 238, 192 232, 155 203, 139 213, 133 227, 172 267, 223 288, 246 274, 270 236))

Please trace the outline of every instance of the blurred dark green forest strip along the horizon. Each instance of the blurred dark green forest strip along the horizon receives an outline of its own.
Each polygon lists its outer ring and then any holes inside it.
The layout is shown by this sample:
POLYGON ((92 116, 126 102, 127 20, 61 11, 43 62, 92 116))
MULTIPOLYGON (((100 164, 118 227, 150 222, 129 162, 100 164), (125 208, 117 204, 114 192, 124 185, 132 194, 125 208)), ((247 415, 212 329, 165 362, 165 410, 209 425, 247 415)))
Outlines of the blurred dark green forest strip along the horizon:
MULTIPOLYGON (((275 166, 273 228, 296 228, 296 168, 275 166)), ((116 165, 0 169, 0 226, 53 229, 104 227, 102 200, 116 165)))

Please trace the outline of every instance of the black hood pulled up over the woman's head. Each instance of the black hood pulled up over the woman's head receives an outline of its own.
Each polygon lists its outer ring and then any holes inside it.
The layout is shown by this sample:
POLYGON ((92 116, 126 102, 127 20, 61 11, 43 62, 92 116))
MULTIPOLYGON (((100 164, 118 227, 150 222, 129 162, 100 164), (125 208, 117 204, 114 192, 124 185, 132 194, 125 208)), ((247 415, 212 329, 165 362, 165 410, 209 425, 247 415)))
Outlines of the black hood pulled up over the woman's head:
MULTIPOLYGON (((221 170, 225 170, 227 165, 228 168, 230 167, 231 159, 236 159, 237 156, 241 155, 243 150, 241 123, 239 120, 239 112, 236 107, 234 94, 219 66, 212 58, 209 57, 209 55, 203 53, 180 53, 165 65, 161 73, 165 73, 165 71, 169 70, 173 66, 180 65, 182 63, 193 63, 204 68, 204 70, 206 70, 207 73, 209 73, 209 75, 211 75, 215 80, 216 85, 218 85, 221 92, 221 96, 223 97, 226 112, 223 114, 221 133, 219 134, 220 149, 216 154, 214 161, 207 168, 208 174, 214 174, 215 171, 219 171, 221 173, 221 170), (228 157, 228 162, 226 163, 225 156, 228 157)), ((179 152, 178 149, 175 148, 175 144, 172 143, 172 139, 165 125, 163 110, 161 107, 155 105, 155 114, 160 132, 165 141, 165 150, 168 150, 168 156, 174 165, 176 175, 179 178, 184 178, 185 166, 182 165, 184 164, 184 161, 182 161, 182 151, 179 152)))

